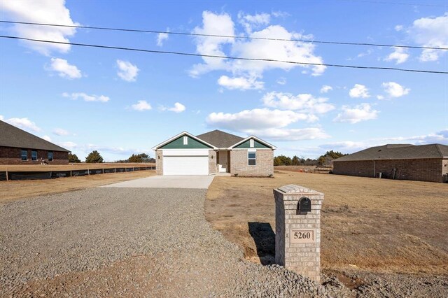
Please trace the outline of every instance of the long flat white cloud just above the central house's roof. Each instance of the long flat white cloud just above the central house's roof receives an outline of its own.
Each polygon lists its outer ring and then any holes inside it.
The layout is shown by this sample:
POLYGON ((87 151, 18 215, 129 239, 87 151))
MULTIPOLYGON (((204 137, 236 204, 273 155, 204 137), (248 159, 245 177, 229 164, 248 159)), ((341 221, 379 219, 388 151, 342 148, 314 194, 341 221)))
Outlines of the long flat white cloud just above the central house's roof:
POLYGON ((269 110, 255 108, 238 113, 211 113, 206 122, 213 127, 229 129, 234 132, 245 132, 253 129, 281 128, 297 121, 314 122, 315 115, 296 113, 294 111, 269 110))

